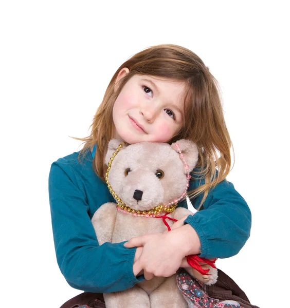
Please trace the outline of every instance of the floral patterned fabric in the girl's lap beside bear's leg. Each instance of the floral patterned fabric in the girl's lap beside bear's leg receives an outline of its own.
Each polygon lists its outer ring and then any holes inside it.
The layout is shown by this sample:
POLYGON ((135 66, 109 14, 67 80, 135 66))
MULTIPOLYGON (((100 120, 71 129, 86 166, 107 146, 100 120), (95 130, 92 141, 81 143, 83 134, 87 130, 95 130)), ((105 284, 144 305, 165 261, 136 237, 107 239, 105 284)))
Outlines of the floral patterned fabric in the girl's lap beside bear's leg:
POLYGON ((219 301, 208 296, 205 284, 179 269, 176 277, 179 290, 182 292, 189 308, 243 308, 232 300, 219 301))

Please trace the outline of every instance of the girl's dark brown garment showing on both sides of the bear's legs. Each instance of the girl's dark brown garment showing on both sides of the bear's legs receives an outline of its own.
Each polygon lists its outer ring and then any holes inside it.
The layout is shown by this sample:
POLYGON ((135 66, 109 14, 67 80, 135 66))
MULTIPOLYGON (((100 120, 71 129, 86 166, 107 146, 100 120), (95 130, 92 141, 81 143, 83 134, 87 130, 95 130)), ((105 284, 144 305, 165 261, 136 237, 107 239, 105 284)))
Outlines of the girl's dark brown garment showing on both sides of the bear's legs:
MULTIPOLYGON (((243 308, 259 308, 252 305, 244 291, 221 269, 218 269, 218 282, 206 286, 208 295, 221 300, 235 300, 243 308)), ((81 293, 65 302, 60 308, 77 308, 81 305, 88 305, 90 308, 105 308, 103 294, 81 293)))

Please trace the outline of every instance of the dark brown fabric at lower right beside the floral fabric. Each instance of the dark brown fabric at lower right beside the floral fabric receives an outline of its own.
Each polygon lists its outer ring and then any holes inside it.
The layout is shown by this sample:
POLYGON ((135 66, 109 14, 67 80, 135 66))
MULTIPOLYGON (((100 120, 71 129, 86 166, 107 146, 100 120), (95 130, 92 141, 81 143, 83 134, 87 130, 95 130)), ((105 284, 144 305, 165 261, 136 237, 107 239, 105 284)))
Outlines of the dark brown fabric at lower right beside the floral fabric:
POLYGON ((218 281, 213 285, 207 285, 206 291, 212 298, 235 300, 243 308, 259 308, 250 303, 245 292, 221 269, 218 269, 218 281))

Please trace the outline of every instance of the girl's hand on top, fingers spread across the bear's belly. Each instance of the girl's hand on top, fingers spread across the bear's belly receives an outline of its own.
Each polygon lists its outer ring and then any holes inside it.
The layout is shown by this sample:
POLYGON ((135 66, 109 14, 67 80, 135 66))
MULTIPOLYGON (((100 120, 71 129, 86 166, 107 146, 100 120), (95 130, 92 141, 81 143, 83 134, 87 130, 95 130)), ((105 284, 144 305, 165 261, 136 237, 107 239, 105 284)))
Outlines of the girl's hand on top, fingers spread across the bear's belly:
POLYGON ((154 276, 172 276, 177 272, 185 257, 180 249, 178 238, 171 232, 134 237, 124 243, 124 246, 128 248, 143 246, 140 257, 133 265, 133 272, 135 275, 143 269, 144 277, 147 280, 151 280, 154 276))

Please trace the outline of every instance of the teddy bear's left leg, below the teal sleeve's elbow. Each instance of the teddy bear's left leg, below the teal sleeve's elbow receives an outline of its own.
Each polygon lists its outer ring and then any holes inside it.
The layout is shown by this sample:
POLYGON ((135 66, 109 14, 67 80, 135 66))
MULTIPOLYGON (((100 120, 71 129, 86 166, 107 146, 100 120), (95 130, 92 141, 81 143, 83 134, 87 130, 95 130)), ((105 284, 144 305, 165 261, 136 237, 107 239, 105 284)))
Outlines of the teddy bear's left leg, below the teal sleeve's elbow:
POLYGON ((104 293, 106 308, 150 308, 148 294, 137 285, 128 290, 104 293))

